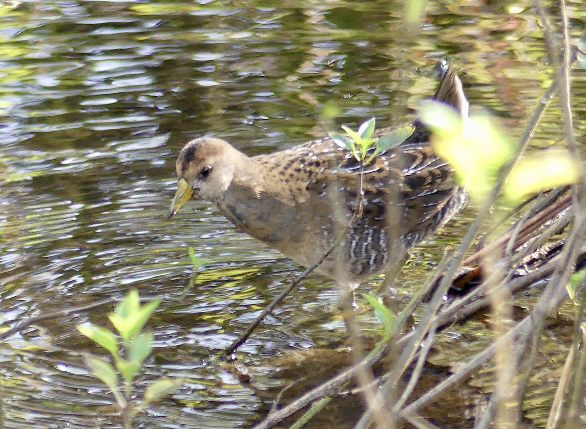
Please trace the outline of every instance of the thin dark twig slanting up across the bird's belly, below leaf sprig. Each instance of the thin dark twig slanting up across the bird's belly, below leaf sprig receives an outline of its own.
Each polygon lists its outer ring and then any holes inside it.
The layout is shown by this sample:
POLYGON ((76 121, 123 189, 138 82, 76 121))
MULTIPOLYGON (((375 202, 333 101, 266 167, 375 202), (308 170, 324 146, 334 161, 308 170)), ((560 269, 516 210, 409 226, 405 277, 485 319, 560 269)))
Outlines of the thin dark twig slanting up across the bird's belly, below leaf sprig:
POLYGON ((311 267, 307 268, 303 273, 299 274, 297 277, 295 277, 291 283, 289 283, 289 287, 287 289, 285 289, 284 291, 282 291, 279 295, 277 295, 277 297, 275 297, 271 303, 265 307, 265 309, 261 312, 260 315, 258 315, 258 317, 256 319, 254 319, 254 321, 248 325, 248 328, 246 328, 246 331, 244 331, 244 333, 242 335, 240 335, 239 338, 236 339, 236 341, 234 341, 233 343, 230 344, 230 346, 228 346, 226 348, 226 350, 224 350, 224 356, 230 356, 232 353, 234 353, 234 351, 239 348, 251 335, 251 333, 253 333, 254 329, 257 328, 258 325, 260 325, 260 322, 263 321, 263 319, 272 311, 274 310, 275 307, 277 307, 277 305, 280 304, 280 302, 287 297, 287 295, 289 295, 289 292, 291 292, 300 282, 301 280, 304 280, 305 277, 307 277, 309 274, 312 273, 312 271, 315 270, 315 268, 319 267, 319 265, 321 265, 323 263, 323 261, 326 260, 326 258, 328 256, 330 256, 330 254, 336 249, 336 247, 339 246, 340 243, 342 243, 342 240, 344 239, 344 237, 346 236, 346 234, 348 233, 348 231, 350 230, 350 228, 352 228, 353 224, 356 223, 356 220, 358 220, 358 218, 362 215, 362 173, 363 173, 363 169, 364 166, 362 165, 363 161, 360 161, 360 173, 358 176, 358 185, 359 185, 359 192, 358 195, 356 196, 356 209, 354 210, 354 213, 352 214, 352 217, 350 218, 350 221, 347 223, 346 227, 342 230, 342 232, 338 235, 338 237, 336 237, 336 240, 333 242, 332 246, 330 246, 328 248, 328 250, 325 251, 325 253, 322 255, 321 258, 319 258, 318 261, 316 261, 315 264, 311 265, 311 267))

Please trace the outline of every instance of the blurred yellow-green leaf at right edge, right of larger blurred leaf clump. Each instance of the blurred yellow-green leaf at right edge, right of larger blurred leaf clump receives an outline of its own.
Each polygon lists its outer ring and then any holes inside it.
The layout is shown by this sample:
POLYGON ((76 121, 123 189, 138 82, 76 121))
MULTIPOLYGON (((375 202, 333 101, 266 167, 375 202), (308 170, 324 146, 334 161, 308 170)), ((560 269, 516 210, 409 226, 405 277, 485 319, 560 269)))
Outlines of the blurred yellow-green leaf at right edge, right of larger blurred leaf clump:
POLYGON ((575 183, 580 173, 580 165, 567 152, 529 154, 513 167, 503 193, 516 204, 527 195, 575 183))

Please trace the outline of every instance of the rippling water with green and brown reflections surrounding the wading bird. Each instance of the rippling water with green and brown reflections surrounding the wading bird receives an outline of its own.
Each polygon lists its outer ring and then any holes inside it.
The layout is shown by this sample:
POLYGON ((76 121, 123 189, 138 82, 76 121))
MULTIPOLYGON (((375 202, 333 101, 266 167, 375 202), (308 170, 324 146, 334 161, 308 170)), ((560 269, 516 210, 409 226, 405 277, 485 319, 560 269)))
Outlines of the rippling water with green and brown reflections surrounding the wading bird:
MULTIPOLYGON (((140 414, 140 427, 257 419, 267 399, 218 358, 299 269, 207 203, 166 219, 188 139, 215 135, 259 154, 373 116, 401 124, 432 94, 443 57, 462 69, 472 104, 517 136, 551 73, 529 2, 430 2, 415 38, 405 37, 398 2, 376 0, 15 5, 0 6, 0 320, 11 326, 130 288, 163 298, 137 391, 162 374, 187 381, 140 414), (208 261, 192 285, 189 246, 208 261)), ((579 35, 580 2, 570 15, 579 35)), ((574 91, 584 96, 583 73, 574 91)), ((552 110, 533 145, 557 141, 558 124, 552 110)), ((473 213, 414 250, 404 294, 473 213)), ((260 387, 280 384, 270 377, 284 365, 275 356, 343 343, 336 295, 331 281, 310 277, 240 349, 264 374, 260 387)), ((81 359, 104 352, 75 329, 109 326, 108 311, 43 320, 2 345, 6 427, 120 427, 81 359)), ((376 331, 370 312, 361 318, 376 331)))

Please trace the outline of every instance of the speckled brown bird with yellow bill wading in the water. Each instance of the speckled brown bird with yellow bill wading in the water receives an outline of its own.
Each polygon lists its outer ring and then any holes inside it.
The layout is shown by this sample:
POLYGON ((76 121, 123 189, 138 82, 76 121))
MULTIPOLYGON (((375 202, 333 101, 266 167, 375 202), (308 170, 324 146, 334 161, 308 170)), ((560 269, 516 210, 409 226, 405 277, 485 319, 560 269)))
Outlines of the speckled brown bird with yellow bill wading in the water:
MULTIPOLYGON (((435 100, 466 116, 461 81, 453 69, 443 71, 435 100)), ((362 216, 317 273, 352 287, 384 273, 464 204, 451 166, 428 143, 430 131, 414 125, 411 137, 364 167, 362 216)), ((359 185, 359 163, 329 137, 254 157, 217 138, 196 138, 179 153, 176 169, 169 217, 192 196, 210 200, 240 230, 306 267, 346 227, 359 185)))

